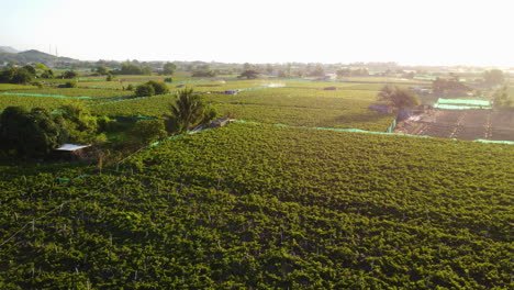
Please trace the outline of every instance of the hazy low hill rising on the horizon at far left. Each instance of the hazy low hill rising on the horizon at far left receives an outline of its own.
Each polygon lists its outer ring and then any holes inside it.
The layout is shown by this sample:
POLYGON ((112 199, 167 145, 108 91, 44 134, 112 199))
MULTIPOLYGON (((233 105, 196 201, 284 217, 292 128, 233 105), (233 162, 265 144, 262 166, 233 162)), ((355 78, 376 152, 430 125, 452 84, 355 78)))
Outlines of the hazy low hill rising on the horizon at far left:
POLYGON ((12 47, 0 46, 0 63, 16 63, 16 64, 42 63, 46 65, 52 65, 55 63, 76 63, 76 62, 80 62, 80 60, 69 58, 69 57, 57 57, 55 55, 42 53, 36 49, 16 52, 12 47), (11 53, 8 51, 10 51, 11 53), (13 51, 15 53, 12 53, 13 51))

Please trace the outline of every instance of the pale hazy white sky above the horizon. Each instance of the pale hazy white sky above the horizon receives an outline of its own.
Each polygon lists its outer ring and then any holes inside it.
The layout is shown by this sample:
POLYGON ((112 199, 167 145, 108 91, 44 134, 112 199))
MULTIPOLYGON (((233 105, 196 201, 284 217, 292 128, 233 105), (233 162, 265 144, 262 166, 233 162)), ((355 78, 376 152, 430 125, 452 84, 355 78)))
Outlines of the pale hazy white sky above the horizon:
POLYGON ((0 0, 0 45, 79 59, 514 66, 512 0, 0 0))

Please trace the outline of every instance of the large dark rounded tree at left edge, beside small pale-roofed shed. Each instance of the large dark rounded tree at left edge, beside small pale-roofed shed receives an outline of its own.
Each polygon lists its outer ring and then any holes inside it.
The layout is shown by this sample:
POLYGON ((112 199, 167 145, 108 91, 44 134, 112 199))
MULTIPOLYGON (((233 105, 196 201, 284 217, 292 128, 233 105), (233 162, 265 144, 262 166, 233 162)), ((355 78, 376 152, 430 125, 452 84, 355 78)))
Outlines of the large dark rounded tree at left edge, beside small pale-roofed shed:
POLYGON ((64 144, 68 132, 63 118, 45 109, 8 107, 0 115, 0 138, 3 152, 40 157, 64 144))

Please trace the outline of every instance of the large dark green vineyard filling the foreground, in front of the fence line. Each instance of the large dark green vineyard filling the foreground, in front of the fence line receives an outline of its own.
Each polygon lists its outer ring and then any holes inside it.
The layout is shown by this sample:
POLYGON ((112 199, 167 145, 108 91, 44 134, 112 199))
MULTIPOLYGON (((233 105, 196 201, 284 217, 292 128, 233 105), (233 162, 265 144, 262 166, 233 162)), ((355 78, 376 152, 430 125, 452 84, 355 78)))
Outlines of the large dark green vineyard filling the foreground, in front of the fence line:
POLYGON ((101 174, 3 165, 0 288, 509 289, 513 156, 234 123, 101 174))

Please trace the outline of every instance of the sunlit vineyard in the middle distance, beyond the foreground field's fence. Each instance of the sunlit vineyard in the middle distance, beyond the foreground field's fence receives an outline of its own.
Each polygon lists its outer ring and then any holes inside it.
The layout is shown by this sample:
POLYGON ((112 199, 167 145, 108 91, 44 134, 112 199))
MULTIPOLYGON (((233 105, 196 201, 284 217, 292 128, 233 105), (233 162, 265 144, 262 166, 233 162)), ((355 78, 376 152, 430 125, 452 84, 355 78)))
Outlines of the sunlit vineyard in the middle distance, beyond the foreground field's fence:
MULTIPOLYGON (((0 110, 8 105, 57 109, 70 101, 79 101, 99 115, 159 118, 168 113, 169 104, 174 102, 174 93, 135 98, 133 91, 122 90, 120 83, 112 86, 115 87, 12 89, 4 91, 5 94, 0 92, 0 110)), ((376 102, 377 91, 383 86, 380 83, 300 80, 194 80, 168 83, 171 92, 180 89, 177 86, 193 88, 199 92, 219 92, 203 96, 221 116, 260 123, 383 132, 394 119, 392 114, 368 109, 376 102), (337 90, 324 90, 334 86, 337 90), (241 92, 235 96, 220 93, 225 90, 241 92)))

